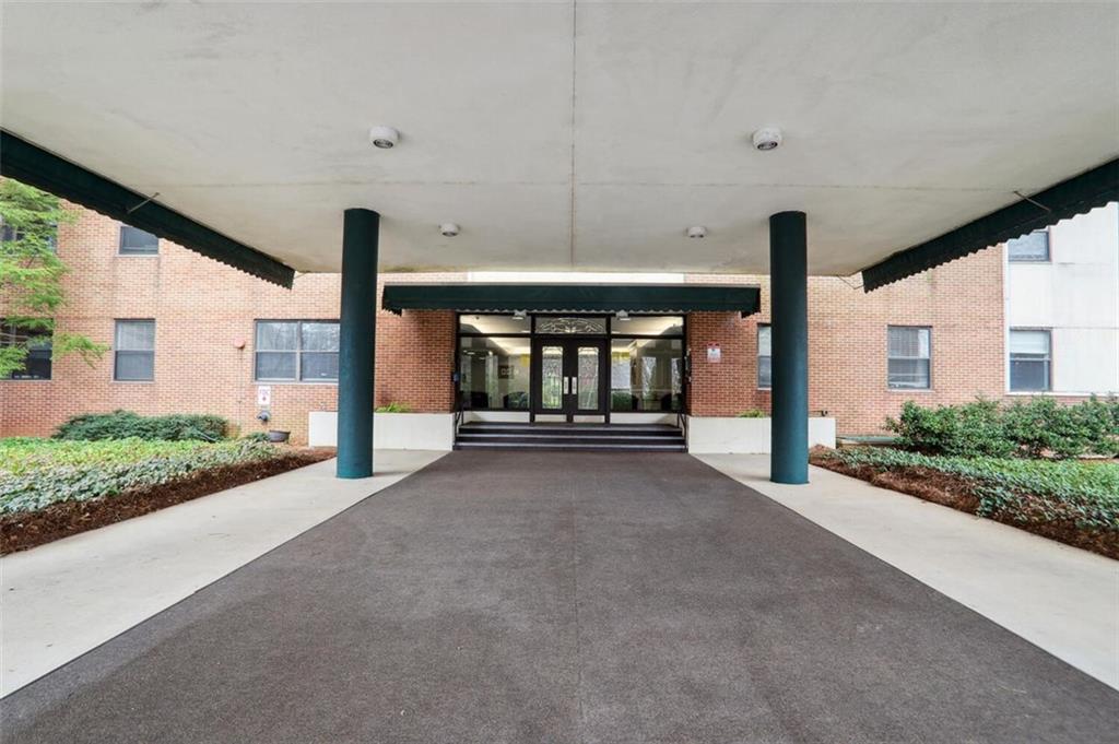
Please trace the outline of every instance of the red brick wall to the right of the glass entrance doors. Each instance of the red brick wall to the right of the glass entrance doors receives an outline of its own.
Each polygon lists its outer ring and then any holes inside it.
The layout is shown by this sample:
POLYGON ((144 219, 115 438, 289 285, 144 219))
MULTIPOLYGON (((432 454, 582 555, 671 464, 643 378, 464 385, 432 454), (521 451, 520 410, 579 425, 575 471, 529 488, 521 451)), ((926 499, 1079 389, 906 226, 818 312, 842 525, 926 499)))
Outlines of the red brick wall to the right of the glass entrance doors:
MULTIPOLYGON (((758 323, 769 322, 767 276, 697 275, 688 281, 750 283, 762 288, 762 310, 689 317, 692 412, 733 416, 747 408, 770 409, 769 390, 758 389, 758 323), (709 364, 707 343, 722 347, 709 364)), ((1002 248, 865 293, 858 280, 809 280, 809 409, 835 416, 840 433, 881 431, 903 402, 961 403, 977 395, 1005 393, 1002 248), (932 328, 932 388, 892 390, 886 384, 886 327, 932 328)))

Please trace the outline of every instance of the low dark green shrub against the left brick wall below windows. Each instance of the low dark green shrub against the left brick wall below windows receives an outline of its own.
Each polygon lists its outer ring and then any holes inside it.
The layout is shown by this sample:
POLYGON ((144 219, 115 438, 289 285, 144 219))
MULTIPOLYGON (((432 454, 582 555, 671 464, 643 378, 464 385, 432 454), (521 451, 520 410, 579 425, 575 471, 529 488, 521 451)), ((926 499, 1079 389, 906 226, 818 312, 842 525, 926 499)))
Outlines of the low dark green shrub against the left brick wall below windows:
POLYGON ((228 422, 208 414, 172 414, 141 416, 131 411, 87 413, 74 416, 58 427, 59 440, 205 440, 216 442, 225 436, 228 422))

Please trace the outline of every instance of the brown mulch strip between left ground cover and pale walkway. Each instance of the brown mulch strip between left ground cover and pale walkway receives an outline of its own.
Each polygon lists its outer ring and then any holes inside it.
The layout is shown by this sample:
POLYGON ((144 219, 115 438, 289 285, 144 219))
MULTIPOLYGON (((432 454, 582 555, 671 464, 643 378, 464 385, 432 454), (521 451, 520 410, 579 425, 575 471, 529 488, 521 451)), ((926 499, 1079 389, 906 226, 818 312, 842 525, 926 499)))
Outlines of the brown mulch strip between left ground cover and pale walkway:
POLYGON ((140 517, 332 456, 333 449, 292 450, 272 460, 199 471, 188 478, 133 489, 117 496, 88 501, 60 501, 39 511, 3 515, 0 516, 0 555, 140 517))

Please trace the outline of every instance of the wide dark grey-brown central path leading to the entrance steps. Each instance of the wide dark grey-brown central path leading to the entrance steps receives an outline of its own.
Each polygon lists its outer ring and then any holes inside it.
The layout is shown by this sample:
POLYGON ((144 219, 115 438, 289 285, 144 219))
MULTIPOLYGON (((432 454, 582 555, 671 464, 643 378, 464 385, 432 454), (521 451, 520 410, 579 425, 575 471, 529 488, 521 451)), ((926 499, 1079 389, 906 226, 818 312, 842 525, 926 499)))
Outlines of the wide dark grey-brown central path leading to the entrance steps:
POLYGON ((1110 742, 1119 693, 688 455, 455 452, 4 700, 13 742, 1110 742))

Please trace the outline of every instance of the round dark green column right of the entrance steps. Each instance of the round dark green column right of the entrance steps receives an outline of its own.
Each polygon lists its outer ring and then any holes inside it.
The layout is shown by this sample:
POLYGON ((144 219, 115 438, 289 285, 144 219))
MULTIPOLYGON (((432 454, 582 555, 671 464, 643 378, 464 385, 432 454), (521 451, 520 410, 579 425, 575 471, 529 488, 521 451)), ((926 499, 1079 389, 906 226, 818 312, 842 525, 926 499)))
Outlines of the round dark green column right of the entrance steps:
POLYGON ((808 237, 805 213, 770 217, 773 428, 770 480, 808 482, 808 237))

